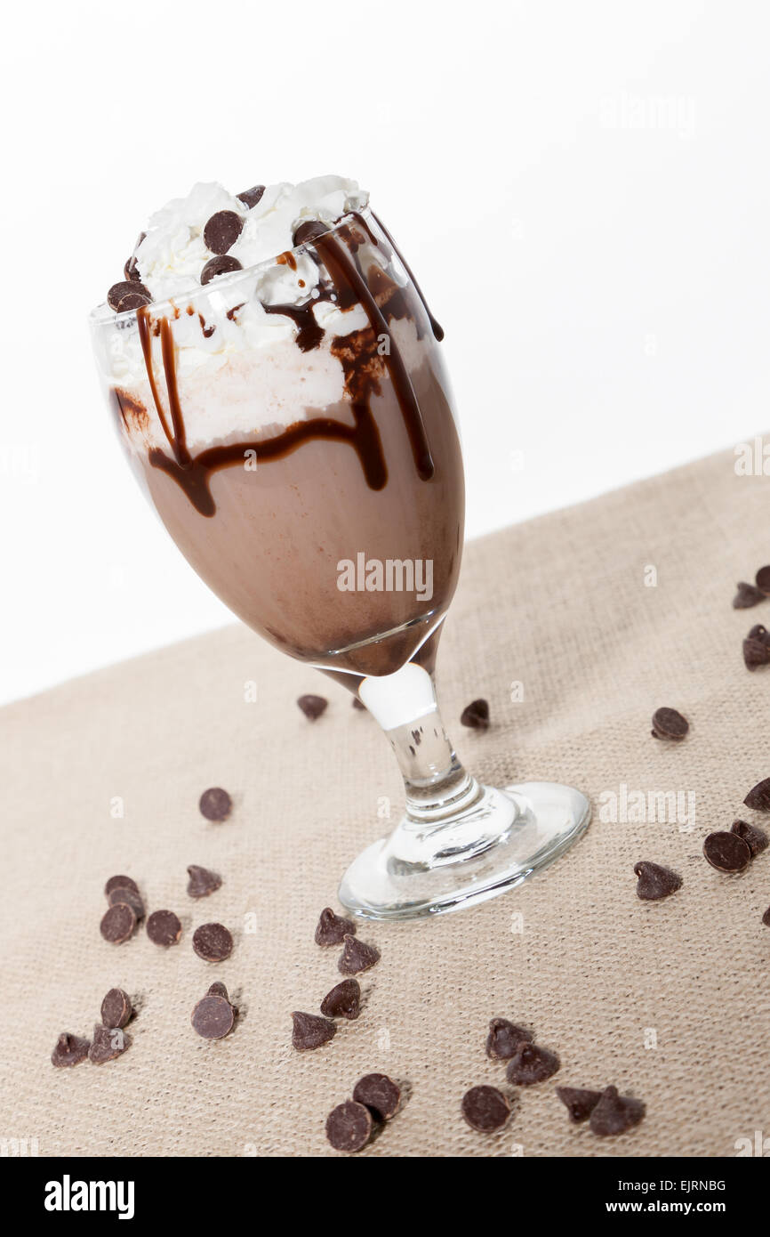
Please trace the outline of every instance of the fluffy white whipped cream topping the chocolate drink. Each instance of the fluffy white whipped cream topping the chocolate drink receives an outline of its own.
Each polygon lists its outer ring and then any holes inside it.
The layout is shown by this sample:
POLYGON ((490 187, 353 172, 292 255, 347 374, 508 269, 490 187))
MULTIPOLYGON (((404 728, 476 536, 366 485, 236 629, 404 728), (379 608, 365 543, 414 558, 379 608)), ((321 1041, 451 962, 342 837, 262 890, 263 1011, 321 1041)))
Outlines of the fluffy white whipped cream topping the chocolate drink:
MULTIPOLYGON (((185 198, 169 202, 151 216, 135 259, 141 282, 153 298, 150 319, 166 317, 172 324, 192 449, 232 435, 264 434, 344 403, 345 374, 332 354, 334 340, 366 329, 368 318, 360 304, 342 313, 335 298, 321 296, 323 272, 309 252, 294 245, 294 231, 304 220, 334 225, 353 210, 366 215, 367 204, 367 193, 355 181, 324 176, 297 186, 268 186, 251 208, 221 184, 195 184, 185 198), (204 229, 220 210, 231 210, 243 220, 227 250, 242 270, 201 286, 203 267, 214 256, 204 229), (287 251, 293 251, 290 261, 287 251), (266 307, 272 306, 311 306, 324 332, 320 344, 300 350, 297 322, 288 313, 268 313, 266 307)), ((372 263, 386 268, 402 287, 408 282, 389 249, 371 244, 368 238, 358 247, 358 261, 363 270, 372 263)), ((116 314, 100 306, 91 320, 104 381, 130 392, 147 411, 143 424, 133 427, 136 445, 163 447, 135 313, 116 314)), ((408 366, 424 359, 425 345, 412 322, 392 323, 392 334, 408 366)), ((153 367, 166 403, 157 339, 153 367)))

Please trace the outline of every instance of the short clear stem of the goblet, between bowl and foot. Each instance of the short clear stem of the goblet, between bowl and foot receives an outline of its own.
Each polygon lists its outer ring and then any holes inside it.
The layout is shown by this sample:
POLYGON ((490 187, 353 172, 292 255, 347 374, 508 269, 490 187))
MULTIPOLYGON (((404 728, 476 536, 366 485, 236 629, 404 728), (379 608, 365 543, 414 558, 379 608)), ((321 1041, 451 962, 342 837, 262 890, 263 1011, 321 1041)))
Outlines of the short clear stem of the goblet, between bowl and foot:
POLYGON ((444 729, 433 674, 410 662, 396 674, 363 679, 358 694, 396 753, 408 823, 440 825, 480 799, 481 787, 462 767, 444 729))

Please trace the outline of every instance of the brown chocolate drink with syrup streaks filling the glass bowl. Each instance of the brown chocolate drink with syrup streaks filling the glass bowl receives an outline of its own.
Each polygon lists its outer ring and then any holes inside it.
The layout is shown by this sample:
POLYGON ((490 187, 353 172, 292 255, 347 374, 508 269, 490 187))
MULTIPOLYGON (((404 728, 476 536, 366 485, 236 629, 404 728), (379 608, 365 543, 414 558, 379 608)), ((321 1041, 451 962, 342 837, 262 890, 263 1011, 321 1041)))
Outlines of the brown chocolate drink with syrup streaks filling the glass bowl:
POLYGON ((315 299, 257 307, 271 325, 292 324, 290 351, 282 339, 269 364, 253 349, 214 374, 185 374, 176 332, 237 327, 247 289, 216 315, 195 298, 140 307, 146 381, 115 383, 114 407, 153 506, 198 574, 282 651, 352 675, 355 688, 403 666, 446 612, 462 547, 462 463, 441 332, 414 282, 397 282, 392 239, 368 213, 314 229, 304 254, 277 262, 304 270, 310 257, 315 299), (319 325, 319 306, 332 329, 319 325), (278 398, 273 361, 290 379, 278 398), (330 367, 341 382, 334 401, 330 367), (344 563, 357 568, 352 586, 350 573, 340 586, 344 563), (388 563, 391 576, 366 570, 388 563), (414 579, 404 564, 418 564, 414 579))

